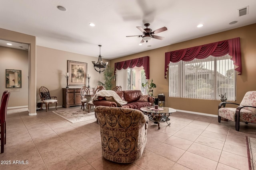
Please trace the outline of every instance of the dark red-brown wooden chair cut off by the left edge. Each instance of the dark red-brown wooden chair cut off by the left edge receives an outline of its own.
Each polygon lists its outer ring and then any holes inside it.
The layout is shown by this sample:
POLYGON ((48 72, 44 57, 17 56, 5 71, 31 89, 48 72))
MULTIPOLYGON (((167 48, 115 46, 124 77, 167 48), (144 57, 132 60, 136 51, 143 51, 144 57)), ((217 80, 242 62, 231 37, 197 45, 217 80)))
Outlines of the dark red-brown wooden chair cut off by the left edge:
POLYGON ((9 97, 10 97, 10 92, 5 91, 3 93, 2 100, 1 100, 1 107, 0 107, 1 153, 4 152, 4 145, 6 144, 6 116, 7 116, 7 106, 8 106, 9 97))

